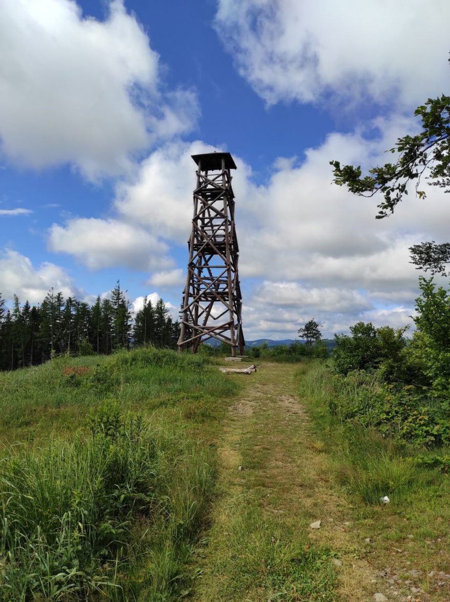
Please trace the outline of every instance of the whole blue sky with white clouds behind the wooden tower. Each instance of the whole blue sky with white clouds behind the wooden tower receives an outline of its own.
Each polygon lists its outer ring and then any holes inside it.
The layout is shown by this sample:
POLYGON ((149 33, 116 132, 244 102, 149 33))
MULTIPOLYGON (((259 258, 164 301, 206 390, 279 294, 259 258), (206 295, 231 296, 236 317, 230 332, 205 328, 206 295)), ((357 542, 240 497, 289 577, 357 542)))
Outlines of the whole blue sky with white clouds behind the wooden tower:
POLYGON ((247 338, 409 323, 407 248, 445 241, 439 190, 389 220, 330 185, 449 90, 434 0, 0 2, 0 291, 179 306, 190 155, 232 152, 247 338), (431 35, 433 33, 433 35, 431 35))

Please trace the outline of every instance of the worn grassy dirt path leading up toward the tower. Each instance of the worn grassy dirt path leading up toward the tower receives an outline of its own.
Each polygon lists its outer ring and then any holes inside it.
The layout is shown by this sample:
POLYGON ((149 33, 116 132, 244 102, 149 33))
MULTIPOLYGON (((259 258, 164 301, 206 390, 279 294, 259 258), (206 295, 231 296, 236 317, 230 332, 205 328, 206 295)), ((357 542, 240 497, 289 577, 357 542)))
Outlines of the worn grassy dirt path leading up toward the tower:
POLYGON ((218 441, 220 494, 196 553, 198 602, 365 601, 378 591, 298 400, 297 370, 267 363, 233 376, 246 380, 218 441))

